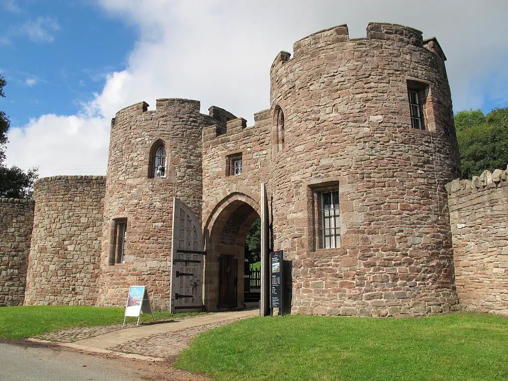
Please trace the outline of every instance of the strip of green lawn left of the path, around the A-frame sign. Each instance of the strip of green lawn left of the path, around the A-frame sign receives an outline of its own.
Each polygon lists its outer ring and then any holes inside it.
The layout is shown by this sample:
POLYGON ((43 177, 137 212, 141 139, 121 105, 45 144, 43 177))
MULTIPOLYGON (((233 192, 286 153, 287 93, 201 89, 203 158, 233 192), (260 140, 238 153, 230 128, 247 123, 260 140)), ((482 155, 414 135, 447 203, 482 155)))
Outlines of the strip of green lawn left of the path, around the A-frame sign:
MULTIPOLYGON (((0 307, 0 338, 24 339, 46 332, 72 327, 93 327, 123 323, 124 308, 88 306, 17 306, 0 307)), ((154 312, 155 321, 195 315, 196 313, 154 312)), ((128 317, 136 323, 137 317, 128 317)), ((152 315, 141 315, 152 322, 152 315)))

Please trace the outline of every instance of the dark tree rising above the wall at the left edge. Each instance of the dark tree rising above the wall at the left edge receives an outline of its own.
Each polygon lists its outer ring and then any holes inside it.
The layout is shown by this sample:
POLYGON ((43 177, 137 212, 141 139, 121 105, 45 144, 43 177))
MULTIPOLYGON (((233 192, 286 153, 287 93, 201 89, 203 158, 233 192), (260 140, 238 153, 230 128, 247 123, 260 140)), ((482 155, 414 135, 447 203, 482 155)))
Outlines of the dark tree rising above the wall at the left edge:
MULTIPOLYGON (((5 78, 0 75, 0 97, 2 98, 5 98, 4 86, 6 84, 5 78)), ((10 125, 9 117, 4 111, 0 111, 0 197, 28 199, 32 196, 38 171, 37 168, 30 168, 27 172, 23 172, 16 166, 7 168, 5 165, 5 145, 10 125)))

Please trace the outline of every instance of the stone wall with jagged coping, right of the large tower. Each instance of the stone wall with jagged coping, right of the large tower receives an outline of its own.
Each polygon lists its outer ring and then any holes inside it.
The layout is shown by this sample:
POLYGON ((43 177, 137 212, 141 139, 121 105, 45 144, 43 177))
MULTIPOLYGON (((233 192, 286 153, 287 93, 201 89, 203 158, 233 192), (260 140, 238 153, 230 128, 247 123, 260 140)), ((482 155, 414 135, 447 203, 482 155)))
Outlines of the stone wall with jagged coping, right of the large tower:
POLYGON ((460 304, 508 315, 508 168, 447 190, 460 304))

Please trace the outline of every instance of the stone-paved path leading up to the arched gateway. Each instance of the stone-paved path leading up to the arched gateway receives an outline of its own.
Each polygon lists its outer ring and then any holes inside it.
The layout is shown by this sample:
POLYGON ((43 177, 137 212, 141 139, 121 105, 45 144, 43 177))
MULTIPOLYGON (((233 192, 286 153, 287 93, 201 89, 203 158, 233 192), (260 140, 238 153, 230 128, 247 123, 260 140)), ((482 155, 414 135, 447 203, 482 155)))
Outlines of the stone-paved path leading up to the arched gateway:
POLYGON ((259 309, 217 312, 188 317, 181 321, 117 329, 71 343, 59 344, 98 353, 128 352, 152 358, 170 357, 178 354, 199 332, 254 316, 259 316, 259 309))

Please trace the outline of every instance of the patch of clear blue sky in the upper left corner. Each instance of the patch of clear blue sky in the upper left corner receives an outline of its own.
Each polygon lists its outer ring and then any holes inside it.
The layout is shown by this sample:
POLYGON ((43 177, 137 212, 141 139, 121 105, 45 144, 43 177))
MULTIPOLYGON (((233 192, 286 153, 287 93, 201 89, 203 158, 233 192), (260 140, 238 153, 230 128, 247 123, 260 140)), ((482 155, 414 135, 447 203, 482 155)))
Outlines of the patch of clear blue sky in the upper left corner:
POLYGON ((72 115, 107 73, 125 68, 136 30, 85 1, 11 2, 0 10, 0 101, 13 126, 47 113, 72 115))

